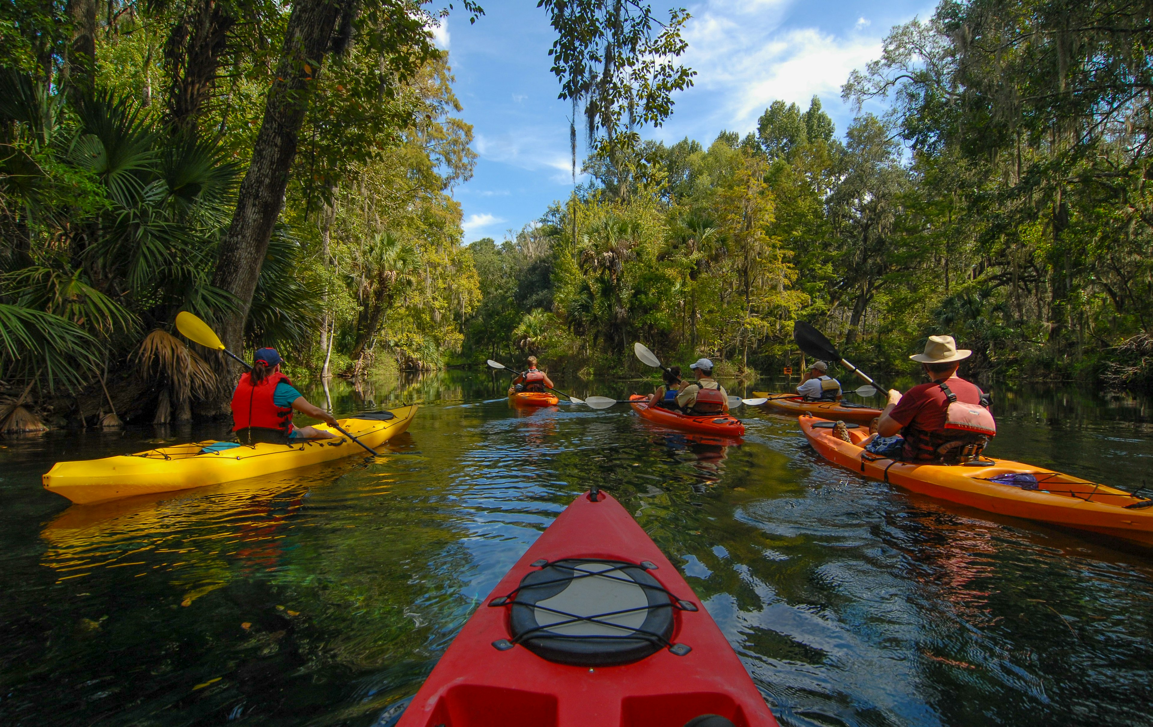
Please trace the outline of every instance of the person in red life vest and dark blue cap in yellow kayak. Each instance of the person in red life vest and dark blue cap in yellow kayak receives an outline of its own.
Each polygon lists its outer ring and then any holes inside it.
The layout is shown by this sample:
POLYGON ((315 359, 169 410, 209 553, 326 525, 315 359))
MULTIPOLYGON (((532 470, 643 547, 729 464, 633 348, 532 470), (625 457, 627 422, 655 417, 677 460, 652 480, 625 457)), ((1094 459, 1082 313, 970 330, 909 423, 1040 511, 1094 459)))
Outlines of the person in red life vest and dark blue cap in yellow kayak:
POLYGON ((330 426, 336 426, 337 420, 300 395, 292 381, 280 373, 281 362, 276 348, 261 348, 254 357, 253 369, 236 383, 232 395, 232 430, 236 439, 241 444, 285 444, 289 440, 336 436, 316 427, 293 426, 294 410, 330 426))

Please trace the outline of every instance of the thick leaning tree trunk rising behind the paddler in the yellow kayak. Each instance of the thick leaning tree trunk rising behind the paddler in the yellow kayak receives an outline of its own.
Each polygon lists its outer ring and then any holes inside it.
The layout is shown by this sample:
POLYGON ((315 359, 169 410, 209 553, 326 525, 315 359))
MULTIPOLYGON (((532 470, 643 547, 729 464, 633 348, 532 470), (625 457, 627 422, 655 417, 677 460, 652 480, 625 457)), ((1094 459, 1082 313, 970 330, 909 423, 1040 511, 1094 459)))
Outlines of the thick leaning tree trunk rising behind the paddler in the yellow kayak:
MULTIPOLYGON (((232 293, 236 312, 220 325, 221 339, 233 351, 241 351, 244 322, 261 275, 261 263, 269 239, 284 207, 288 172, 296 157, 300 128, 311 99, 314 78, 329 51, 332 31, 342 5, 351 0, 299 0, 285 31, 284 48, 276 81, 269 89, 264 120, 253 145, 253 160, 236 196, 228 233, 220 242, 212 284, 232 293)), ((208 414, 226 414, 232 395, 234 367, 220 359, 219 388, 208 414), (212 411, 214 410, 214 411, 212 411)))

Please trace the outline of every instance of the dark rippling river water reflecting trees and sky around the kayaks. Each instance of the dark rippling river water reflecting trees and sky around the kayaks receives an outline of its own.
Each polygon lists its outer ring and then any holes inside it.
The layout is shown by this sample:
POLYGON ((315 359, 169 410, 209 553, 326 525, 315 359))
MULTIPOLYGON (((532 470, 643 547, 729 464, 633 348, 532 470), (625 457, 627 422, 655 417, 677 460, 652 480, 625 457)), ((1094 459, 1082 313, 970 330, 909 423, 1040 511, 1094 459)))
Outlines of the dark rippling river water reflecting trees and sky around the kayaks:
MULTIPOLYGON (((525 415, 477 372, 331 395, 338 413, 424 406, 375 462, 95 507, 40 475, 221 429, 0 440, 0 724, 372 725, 598 482, 683 568, 782 724, 1153 725, 1148 549, 862 480, 759 410, 719 448, 624 405, 525 415)), ((1148 477, 1144 402, 996 396, 989 454, 1148 477)))

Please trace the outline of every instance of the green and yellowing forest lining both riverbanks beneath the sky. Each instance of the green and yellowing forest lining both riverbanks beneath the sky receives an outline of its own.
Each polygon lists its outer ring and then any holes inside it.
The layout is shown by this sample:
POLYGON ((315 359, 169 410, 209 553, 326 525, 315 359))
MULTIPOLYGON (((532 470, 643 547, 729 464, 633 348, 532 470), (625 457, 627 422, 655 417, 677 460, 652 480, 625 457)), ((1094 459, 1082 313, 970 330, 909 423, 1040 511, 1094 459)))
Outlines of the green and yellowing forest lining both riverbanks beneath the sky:
POLYGON ((182 309, 342 376, 609 374, 636 339, 753 374, 805 320, 877 372, 948 332, 990 375, 1153 381, 1144 6, 947 0, 847 80, 888 113, 775 102, 671 145, 640 130, 693 82, 687 15, 542 6, 588 181, 468 246, 472 129, 416 0, 0 6, 0 428, 219 415, 235 372, 182 309))

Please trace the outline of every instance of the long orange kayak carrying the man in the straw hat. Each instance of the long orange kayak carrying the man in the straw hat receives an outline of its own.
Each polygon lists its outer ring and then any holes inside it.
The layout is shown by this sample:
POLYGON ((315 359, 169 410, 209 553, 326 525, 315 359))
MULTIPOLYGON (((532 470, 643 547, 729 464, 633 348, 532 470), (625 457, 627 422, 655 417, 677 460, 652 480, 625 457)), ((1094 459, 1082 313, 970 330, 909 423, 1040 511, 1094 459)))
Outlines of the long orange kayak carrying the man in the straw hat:
POLYGON ((988 459, 990 464, 975 466, 873 459, 861 448, 867 430, 849 429, 852 442, 845 442, 832 434, 832 422, 811 415, 799 421, 817 454, 865 477, 988 512, 1153 545, 1153 500, 1010 459, 988 459))

